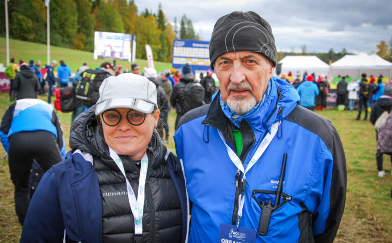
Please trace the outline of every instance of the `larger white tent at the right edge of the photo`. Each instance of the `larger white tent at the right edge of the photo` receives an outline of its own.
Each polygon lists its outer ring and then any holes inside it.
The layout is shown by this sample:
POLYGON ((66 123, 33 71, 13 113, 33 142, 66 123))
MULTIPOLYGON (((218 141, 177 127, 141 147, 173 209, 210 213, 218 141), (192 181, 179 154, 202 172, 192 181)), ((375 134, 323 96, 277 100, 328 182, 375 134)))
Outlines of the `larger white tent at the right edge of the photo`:
POLYGON ((369 77, 391 77, 392 63, 385 61, 380 56, 373 55, 346 55, 331 64, 331 75, 337 77, 349 75, 350 77, 360 77, 361 73, 366 73, 369 77))

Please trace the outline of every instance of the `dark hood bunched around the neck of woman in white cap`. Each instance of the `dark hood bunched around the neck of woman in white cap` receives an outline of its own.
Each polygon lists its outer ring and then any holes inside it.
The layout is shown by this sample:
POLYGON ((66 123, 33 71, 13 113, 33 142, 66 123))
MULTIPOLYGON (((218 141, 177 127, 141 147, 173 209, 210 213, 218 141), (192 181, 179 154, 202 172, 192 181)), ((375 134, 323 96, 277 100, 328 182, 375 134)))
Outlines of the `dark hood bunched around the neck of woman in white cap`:
MULTIPOLYGON (((95 105, 80 114, 72 122, 69 134, 69 147, 72 150, 80 149, 91 155, 110 158, 108 145, 104 139, 102 125, 98 124, 98 120, 95 116, 95 105)), ((166 154, 166 147, 162 144, 156 130, 153 132, 147 150, 151 152, 148 154, 149 161, 152 161, 152 166, 159 166, 166 154)))

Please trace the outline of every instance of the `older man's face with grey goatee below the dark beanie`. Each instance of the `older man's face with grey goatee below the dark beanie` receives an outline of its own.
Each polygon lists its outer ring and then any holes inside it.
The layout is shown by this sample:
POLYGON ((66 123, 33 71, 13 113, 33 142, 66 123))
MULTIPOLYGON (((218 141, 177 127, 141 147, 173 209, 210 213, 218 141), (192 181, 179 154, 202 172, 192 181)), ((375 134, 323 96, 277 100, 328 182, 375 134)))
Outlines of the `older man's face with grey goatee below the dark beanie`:
POLYGON ((232 51, 216 59, 214 71, 223 101, 243 115, 261 101, 274 66, 259 53, 232 51))

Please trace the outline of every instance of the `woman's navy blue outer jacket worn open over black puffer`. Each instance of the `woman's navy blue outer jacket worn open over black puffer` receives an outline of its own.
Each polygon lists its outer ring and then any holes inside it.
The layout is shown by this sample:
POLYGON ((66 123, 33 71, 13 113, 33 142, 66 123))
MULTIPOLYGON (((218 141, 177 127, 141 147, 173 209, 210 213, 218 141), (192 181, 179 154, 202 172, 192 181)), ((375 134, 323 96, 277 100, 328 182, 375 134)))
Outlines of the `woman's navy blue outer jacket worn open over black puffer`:
MULTIPOLYGON (((20 242, 63 242, 64 229, 72 242, 102 242, 102 197, 92 155, 107 157, 108 152, 97 150, 107 148, 99 128, 86 126, 87 120, 95 120, 94 110, 93 106, 72 123, 70 147, 74 149, 43 175, 30 202, 20 242)), ((186 242, 189 202, 181 161, 169 150, 165 161, 181 205, 181 242, 186 242)))

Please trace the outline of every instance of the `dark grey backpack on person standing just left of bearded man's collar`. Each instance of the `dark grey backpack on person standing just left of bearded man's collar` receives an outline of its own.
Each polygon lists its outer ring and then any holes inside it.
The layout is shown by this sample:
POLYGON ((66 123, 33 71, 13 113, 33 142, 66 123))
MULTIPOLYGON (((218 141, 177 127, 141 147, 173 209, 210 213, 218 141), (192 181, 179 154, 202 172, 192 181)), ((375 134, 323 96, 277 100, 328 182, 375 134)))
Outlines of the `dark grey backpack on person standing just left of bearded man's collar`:
POLYGON ((204 88, 197 82, 187 83, 184 87, 184 114, 204 104, 204 88))

